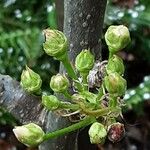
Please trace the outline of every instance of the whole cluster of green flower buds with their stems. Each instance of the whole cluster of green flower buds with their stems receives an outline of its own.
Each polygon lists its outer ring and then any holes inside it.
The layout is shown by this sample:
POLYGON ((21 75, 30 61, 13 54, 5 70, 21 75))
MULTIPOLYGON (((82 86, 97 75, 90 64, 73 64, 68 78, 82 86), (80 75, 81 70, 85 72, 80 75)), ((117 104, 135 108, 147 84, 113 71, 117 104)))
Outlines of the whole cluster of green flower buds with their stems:
MULTIPOLYGON (((67 116, 76 114, 85 118, 64 130, 56 131, 56 136, 68 133, 73 130, 90 124, 89 137, 93 144, 103 144, 106 137, 112 142, 118 142, 124 136, 124 125, 116 123, 116 118, 121 113, 121 105, 118 98, 121 98, 126 91, 127 83, 123 78, 124 64, 123 60, 117 56, 117 52, 125 48, 130 42, 130 34, 127 27, 110 26, 105 34, 105 40, 108 45, 110 57, 108 63, 103 69, 101 84, 97 93, 91 92, 88 85, 88 75, 93 68, 95 60, 90 50, 82 50, 75 59, 75 68, 71 65, 68 58, 68 41, 65 35, 57 30, 44 30, 46 41, 43 44, 45 52, 61 61, 66 69, 66 75, 57 74, 50 80, 50 88, 57 93, 63 94, 69 103, 60 101, 54 95, 43 95, 42 104, 49 111, 58 109, 67 109, 67 116), (73 92, 69 93, 69 80, 72 79, 73 92), (82 78, 82 80, 80 80, 82 78), (104 101, 107 105, 104 105, 104 101), (69 109, 69 111, 68 111, 69 109), (71 113, 70 113, 71 112, 71 113), (89 119, 88 119, 89 118, 89 119), (94 119, 93 119, 94 118, 94 119), (99 119, 100 118, 100 119, 99 119), (98 122, 100 121, 101 122, 98 122), (111 121, 110 121, 111 120, 111 121)), ((22 87, 30 93, 41 91, 42 80, 40 76, 26 67, 21 75, 22 87)), ((66 111, 65 111, 66 112, 66 111)), ((19 141, 27 146, 34 146, 45 140, 45 133, 40 127, 31 123, 21 127, 16 127, 14 133, 19 141)), ((55 132, 46 136, 55 137, 55 132)))

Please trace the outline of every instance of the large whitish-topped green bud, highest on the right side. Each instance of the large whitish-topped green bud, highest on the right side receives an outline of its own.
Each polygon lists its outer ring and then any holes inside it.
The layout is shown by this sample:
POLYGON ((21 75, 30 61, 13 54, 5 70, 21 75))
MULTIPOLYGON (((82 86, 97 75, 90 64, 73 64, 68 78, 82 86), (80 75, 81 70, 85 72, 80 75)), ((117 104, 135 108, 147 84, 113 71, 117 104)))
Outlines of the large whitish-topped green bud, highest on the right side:
POLYGON ((105 41, 112 53, 125 48, 131 41, 128 28, 124 25, 110 26, 105 33, 105 41))

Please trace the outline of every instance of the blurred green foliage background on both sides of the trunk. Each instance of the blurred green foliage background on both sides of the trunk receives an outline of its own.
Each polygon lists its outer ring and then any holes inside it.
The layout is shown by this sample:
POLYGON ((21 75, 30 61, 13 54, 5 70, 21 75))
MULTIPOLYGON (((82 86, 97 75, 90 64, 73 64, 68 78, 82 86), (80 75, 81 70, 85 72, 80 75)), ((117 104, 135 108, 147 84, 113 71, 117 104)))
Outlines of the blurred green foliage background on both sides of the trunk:
MULTIPOLYGON (((62 0, 0 1, 1 74, 8 74, 19 81, 27 64, 42 77, 43 89, 49 90, 47 81, 58 72, 59 63, 43 53, 42 30, 47 27, 62 29, 62 4, 62 0)), ((150 99, 149 0, 109 0, 104 32, 112 24, 124 24, 131 32, 131 45, 120 52, 126 65, 125 78, 129 88, 125 100, 128 109, 142 109, 143 100, 150 99)), ((102 56, 105 59, 107 48, 104 39, 102 41, 102 56)), ((0 123, 10 123, 6 115, 3 115, 5 111, 1 112, 0 123)))

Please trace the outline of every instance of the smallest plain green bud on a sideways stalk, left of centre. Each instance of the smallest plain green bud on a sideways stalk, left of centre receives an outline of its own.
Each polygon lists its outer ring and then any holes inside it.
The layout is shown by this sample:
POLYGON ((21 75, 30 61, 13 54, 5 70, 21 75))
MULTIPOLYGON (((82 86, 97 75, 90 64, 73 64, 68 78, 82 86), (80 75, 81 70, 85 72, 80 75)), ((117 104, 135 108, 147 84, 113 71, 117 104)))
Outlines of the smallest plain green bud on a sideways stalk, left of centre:
POLYGON ((50 95, 50 96, 42 96, 42 104, 48 109, 48 110, 55 110, 59 107, 60 101, 57 99, 56 96, 50 95))

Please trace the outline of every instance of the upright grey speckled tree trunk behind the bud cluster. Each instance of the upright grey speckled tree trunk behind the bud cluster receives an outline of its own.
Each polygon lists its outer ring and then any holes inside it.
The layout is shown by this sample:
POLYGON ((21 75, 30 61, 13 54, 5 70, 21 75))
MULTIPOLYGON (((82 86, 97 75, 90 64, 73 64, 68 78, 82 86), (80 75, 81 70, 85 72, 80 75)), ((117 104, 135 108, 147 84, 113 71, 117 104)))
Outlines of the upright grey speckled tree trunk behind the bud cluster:
MULTIPOLYGON (((64 33, 69 40, 69 56, 74 64, 75 57, 82 49, 90 48, 96 59, 101 58, 100 38, 106 0, 64 0, 64 33)), ((60 72, 64 72, 63 66, 60 72)), ((48 114, 47 130, 52 131, 70 124, 67 119, 48 114)), ((50 140, 41 145, 40 150, 77 150, 78 133, 50 140)))

